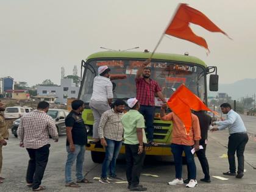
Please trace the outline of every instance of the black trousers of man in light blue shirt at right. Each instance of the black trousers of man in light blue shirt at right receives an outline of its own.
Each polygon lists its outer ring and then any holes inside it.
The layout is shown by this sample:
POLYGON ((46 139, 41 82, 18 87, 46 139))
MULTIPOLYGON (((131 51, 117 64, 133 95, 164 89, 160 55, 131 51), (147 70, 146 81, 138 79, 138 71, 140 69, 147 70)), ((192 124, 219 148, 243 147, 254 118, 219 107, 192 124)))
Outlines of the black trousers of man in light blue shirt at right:
POLYGON ((244 148, 249 138, 246 133, 233 133, 229 136, 227 156, 229 158, 229 171, 235 172, 235 152, 238 162, 238 173, 244 172, 244 148))

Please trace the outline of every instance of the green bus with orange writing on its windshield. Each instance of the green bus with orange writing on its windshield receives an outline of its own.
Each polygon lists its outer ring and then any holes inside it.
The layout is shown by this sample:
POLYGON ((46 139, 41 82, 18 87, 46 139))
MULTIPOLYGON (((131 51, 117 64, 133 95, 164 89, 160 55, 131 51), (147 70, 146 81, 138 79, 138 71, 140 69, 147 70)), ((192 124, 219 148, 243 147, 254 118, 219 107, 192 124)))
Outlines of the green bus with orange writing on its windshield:
MULTIPOLYGON (((127 100, 136 97, 135 76, 141 63, 149 57, 151 57, 151 53, 148 51, 104 51, 89 55, 86 62, 82 60, 82 80, 78 98, 85 102, 82 116, 88 131, 87 150, 91 151, 93 162, 101 163, 104 160, 104 148, 101 144, 91 143, 93 113, 89 102, 93 92, 93 79, 98 75, 98 67, 107 65, 111 69, 111 74, 127 75, 127 79, 112 81, 113 100, 127 100), (84 71, 83 75, 82 71, 84 71)), ((181 84, 185 84, 202 101, 207 103, 207 74, 210 73, 215 73, 210 75, 210 90, 218 91, 216 66, 207 66, 202 60, 187 53, 184 55, 155 53, 148 67, 151 68, 151 78, 162 87, 162 93, 166 99, 169 99, 181 84)), ((147 155, 172 155, 170 149, 172 122, 160 120, 160 105, 160 99, 155 98, 154 141, 159 145, 146 147, 147 155)), ((124 146, 120 153, 124 153, 124 146)))

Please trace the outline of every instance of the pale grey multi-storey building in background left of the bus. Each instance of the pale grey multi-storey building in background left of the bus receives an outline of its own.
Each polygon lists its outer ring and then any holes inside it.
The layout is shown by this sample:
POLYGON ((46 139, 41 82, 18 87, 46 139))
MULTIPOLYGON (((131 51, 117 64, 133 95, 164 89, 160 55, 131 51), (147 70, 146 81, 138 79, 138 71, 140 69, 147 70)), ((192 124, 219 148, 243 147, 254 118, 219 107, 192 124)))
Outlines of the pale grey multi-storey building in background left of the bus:
POLYGON ((77 98, 79 87, 73 79, 61 79, 60 86, 37 86, 37 97, 55 96, 58 103, 66 103, 68 98, 77 98))

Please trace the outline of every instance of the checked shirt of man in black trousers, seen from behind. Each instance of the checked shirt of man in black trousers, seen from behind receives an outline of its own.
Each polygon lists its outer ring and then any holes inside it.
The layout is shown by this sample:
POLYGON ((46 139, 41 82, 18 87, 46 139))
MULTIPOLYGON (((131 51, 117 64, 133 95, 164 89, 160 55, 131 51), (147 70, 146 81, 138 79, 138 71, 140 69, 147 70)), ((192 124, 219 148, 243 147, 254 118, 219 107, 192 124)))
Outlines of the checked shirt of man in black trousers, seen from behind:
POLYGON ((49 144, 49 135, 54 140, 59 138, 54 119, 40 110, 34 110, 21 117, 17 130, 24 148, 38 149, 49 144))

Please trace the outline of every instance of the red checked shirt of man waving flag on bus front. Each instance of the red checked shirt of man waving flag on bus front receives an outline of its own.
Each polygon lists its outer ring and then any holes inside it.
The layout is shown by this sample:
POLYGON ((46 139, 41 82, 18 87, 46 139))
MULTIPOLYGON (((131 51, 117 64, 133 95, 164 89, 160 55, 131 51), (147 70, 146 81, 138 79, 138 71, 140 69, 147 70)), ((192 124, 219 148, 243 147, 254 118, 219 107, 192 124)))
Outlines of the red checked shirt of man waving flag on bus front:
POLYGON ((155 106, 155 93, 161 91, 161 88, 155 80, 149 79, 149 82, 142 77, 135 79, 137 88, 137 99, 141 105, 155 106))

